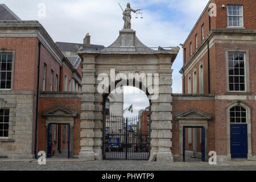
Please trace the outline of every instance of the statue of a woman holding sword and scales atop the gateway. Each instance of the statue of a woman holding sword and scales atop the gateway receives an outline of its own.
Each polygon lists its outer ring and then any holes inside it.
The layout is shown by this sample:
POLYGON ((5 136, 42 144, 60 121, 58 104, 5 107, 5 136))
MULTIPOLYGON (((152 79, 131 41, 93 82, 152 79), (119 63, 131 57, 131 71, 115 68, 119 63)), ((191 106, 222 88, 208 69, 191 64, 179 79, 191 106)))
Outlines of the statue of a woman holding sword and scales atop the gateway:
MULTIPOLYGON (((120 4, 119 4, 119 6, 122 9, 122 6, 120 4)), ((122 11, 123 11, 123 9, 122 9, 122 11)), ((125 21, 125 24, 123 25, 123 29, 125 29, 125 30, 131 29, 131 11, 133 11, 133 13, 136 13, 135 18, 138 18, 138 16, 141 16, 141 18, 143 18, 141 10, 131 9, 130 3, 127 3, 126 9, 125 9, 125 11, 123 11, 123 21, 125 21)))

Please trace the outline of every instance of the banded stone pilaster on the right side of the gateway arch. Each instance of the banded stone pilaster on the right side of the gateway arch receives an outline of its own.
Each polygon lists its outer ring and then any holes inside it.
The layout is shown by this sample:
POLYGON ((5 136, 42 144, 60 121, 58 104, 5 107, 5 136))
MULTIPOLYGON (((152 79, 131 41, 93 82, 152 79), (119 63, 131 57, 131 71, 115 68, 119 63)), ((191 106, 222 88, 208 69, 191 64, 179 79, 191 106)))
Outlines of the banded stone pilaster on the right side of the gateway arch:
MULTIPOLYGON (((157 108, 152 105, 152 125, 157 132, 158 152, 156 160, 159 162, 173 162, 172 156, 172 70, 171 59, 159 56, 159 98, 157 108), (157 111, 156 111, 157 110, 157 111), (154 123, 154 124, 153 124, 154 123)), ((152 127, 151 127, 152 128, 152 127)), ((155 133, 156 134, 156 133, 155 133)))

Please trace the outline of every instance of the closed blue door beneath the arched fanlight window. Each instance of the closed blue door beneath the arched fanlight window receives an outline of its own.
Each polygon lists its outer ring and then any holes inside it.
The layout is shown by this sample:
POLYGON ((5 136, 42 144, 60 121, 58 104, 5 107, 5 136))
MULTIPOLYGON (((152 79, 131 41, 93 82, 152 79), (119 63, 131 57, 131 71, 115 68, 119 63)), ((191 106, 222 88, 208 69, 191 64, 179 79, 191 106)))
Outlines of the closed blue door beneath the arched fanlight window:
POLYGON ((231 158, 247 158, 247 124, 230 124, 231 158))

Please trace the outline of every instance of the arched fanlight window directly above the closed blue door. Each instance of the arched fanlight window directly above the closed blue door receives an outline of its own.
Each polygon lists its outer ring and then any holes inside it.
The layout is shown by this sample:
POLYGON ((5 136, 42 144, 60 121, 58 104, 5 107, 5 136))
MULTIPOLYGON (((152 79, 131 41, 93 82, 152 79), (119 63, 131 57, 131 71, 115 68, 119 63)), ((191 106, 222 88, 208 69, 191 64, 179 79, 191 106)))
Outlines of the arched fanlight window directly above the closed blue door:
POLYGON ((247 123, 246 109, 241 106, 235 106, 230 109, 230 123, 247 123))

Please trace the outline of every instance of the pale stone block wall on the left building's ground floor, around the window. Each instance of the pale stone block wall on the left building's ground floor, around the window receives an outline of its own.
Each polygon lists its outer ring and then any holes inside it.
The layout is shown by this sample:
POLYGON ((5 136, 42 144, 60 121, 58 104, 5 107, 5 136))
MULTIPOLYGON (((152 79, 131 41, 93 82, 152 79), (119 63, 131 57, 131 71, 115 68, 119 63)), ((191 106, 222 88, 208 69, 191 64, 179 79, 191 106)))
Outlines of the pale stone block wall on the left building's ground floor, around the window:
POLYGON ((10 109, 9 139, 0 139, 0 156, 33 158, 34 97, 32 91, 0 91, 1 108, 10 109))

